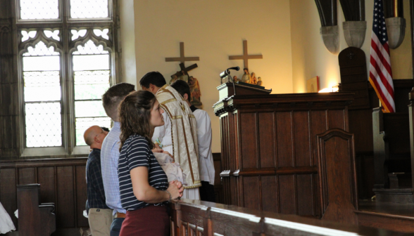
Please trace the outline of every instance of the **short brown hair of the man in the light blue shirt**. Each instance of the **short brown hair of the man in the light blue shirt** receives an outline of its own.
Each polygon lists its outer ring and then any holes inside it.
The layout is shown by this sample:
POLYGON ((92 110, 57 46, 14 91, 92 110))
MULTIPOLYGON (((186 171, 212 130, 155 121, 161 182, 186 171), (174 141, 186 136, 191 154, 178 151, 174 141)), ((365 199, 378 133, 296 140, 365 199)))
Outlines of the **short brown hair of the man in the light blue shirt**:
POLYGON ((118 105, 129 93, 135 90, 134 84, 119 83, 108 89, 102 96, 102 105, 108 117, 118 116, 118 105))

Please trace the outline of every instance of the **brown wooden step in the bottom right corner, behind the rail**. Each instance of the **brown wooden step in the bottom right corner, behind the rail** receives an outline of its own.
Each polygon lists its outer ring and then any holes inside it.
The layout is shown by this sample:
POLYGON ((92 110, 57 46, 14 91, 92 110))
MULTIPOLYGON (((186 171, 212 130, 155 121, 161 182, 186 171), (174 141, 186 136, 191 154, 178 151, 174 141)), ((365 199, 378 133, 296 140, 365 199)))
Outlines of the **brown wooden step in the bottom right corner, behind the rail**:
POLYGON ((398 232, 414 232, 414 204, 360 201, 358 224, 398 232))

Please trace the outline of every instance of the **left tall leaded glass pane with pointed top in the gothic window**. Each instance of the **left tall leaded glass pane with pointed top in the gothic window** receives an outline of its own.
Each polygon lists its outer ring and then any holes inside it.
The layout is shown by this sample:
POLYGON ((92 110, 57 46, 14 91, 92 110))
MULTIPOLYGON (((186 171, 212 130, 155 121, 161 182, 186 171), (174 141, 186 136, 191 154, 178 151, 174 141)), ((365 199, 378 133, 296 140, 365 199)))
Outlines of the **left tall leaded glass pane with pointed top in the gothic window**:
POLYGON ((23 54, 26 147, 62 145, 60 53, 39 41, 23 54))

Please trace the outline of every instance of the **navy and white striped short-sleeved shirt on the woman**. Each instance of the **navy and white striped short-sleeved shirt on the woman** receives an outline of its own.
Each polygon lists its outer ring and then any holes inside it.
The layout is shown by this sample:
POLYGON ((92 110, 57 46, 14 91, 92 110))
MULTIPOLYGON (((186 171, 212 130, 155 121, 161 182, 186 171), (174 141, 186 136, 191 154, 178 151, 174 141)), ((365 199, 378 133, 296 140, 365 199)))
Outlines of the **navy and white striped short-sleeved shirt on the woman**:
MULTIPOLYGON (((120 200, 123 209, 127 209, 127 211, 142 209, 150 205, 139 201, 132 190, 130 171, 139 166, 148 168, 149 185, 157 190, 168 188, 167 175, 165 175, 151 149, 149 149, 148 141, 137 134, 130 136, 125 140, 118 160, 120 200)), ((161 202, 153 205, 162 206, 164 204, 165 202, 161 202)))

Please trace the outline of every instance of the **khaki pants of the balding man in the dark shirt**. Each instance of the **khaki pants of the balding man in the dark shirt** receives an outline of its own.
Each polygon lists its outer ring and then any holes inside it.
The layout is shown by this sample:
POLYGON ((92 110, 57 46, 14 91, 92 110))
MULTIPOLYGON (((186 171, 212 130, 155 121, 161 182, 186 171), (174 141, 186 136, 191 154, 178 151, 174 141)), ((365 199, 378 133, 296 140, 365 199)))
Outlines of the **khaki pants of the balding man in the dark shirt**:
POLYGON ((109 236, 112 223, 112 209, 89 209, 88 221, 92 236, 109 236))

